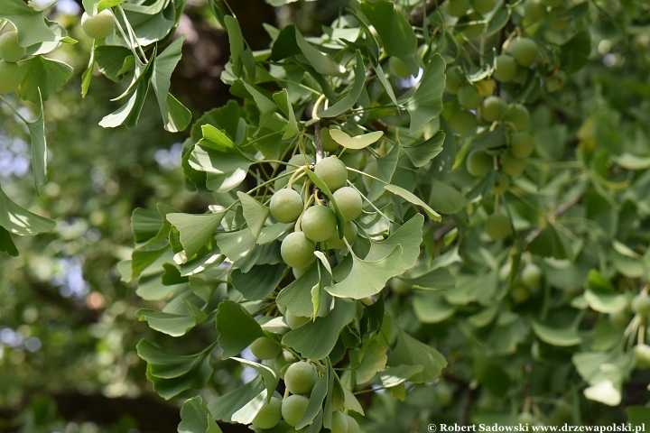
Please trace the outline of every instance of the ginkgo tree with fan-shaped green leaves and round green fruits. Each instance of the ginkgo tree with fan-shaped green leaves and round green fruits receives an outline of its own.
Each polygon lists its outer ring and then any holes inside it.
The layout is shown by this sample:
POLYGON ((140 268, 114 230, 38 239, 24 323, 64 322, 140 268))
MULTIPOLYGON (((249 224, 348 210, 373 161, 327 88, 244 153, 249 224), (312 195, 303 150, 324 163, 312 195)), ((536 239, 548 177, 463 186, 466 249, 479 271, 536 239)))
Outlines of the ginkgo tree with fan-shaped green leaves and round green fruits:
MULTIPOLYGON (((190 127, 182 170, 214 201, 203 214, 135 209, 118 265, 163 305, 138 311, 149 327, 216 328, 193 355, 137 347, 153 390, 183 397, 179 431, 621 418, 582 409, 617 407, 650 365, 650 160, 645 129, 585 84, 605 23, 638 31, 635 2, 616 14, 600 3, 351 1, 320 35, 266 25, 270 48, 253 51, 242 17, 209 1, 237 101, 190 127), (204 401, 225 359, 255 378, 204 401)), ((82 96, 96 69, 125 84, 99 124, 136 127, 151 87, 164 129, 188 128, 169 91, 185 2, 83 5, 95 41, 82 96)), ((70 77, 43 54, 74 41, 21 0, 0 18, 14 27, 0 74, 21 77, 4 93, 42 104, 70 77)), ((43 118, 20 116, 38 191, 43 118)), ((9 234, 53 223, 0 194, 0 246, 15 255, 9 234)), ((626 406, 633 423, 648 417, 626 406)))

